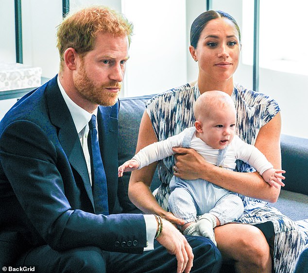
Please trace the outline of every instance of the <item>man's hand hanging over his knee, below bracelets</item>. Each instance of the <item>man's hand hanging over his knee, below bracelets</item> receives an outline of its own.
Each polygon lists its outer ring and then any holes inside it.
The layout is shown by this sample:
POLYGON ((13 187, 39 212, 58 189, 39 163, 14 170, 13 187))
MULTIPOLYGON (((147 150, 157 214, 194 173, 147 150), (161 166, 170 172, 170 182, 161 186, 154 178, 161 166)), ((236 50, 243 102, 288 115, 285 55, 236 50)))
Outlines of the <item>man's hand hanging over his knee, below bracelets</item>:
POLYGON ((177 259, 177 273, 188 273, 192 268, 193 253, 186 238, 167 220, 163 219, 163 230, 156 239, 177 259))

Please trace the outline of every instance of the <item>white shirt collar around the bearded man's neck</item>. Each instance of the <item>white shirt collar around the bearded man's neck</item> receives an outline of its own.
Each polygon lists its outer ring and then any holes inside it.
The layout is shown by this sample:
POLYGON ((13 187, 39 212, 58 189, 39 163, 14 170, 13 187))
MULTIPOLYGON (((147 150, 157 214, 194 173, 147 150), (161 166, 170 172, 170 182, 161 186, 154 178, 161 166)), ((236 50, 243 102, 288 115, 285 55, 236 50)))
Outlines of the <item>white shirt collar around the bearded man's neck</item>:
POLYGON ((61 94, 63 96, 63 99, 65 103, 67 104, 68 110, 73 118, 77 133, 79 134, 81 130, 84 129, 85 126, 88 124, 92 115, 97 116, 97 108, 94 110, 92 114, 87 112, 85 109, 77 105, 75 102, 73 102, 68 97, 68 94, 65 92, 63 86, 60 83, 59 77, 57 77, 57 82, 58 82, 61 94))

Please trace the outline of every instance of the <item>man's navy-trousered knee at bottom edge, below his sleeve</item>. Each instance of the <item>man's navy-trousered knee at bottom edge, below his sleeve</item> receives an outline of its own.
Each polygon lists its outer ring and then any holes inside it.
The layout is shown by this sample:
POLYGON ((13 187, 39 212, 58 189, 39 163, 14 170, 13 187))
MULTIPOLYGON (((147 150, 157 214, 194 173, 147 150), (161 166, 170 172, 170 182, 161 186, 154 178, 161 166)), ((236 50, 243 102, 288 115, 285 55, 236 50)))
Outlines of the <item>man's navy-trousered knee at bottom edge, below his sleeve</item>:
POLYGON ((106 262, 98 247, 82 247, 67 251, 59 261, 58 272, 104 273, 106 262))

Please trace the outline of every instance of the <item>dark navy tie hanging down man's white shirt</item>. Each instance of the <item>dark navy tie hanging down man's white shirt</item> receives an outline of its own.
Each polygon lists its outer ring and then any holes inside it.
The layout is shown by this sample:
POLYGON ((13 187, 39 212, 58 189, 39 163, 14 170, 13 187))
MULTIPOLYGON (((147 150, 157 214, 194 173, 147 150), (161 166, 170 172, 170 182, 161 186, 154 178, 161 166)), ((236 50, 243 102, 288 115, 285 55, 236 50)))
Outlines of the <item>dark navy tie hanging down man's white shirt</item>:
POLYGON ((91 157, 92 191, 96 214, 108 215, 107 179, 96 130, 96 117, 89 121, 89 153, 91 157))

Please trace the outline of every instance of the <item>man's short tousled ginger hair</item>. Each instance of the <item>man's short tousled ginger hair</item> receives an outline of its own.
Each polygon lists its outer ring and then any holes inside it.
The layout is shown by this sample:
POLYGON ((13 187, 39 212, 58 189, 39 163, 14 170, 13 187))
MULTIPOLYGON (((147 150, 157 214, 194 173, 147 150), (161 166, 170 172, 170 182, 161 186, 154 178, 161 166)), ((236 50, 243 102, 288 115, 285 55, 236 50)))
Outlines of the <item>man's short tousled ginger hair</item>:
POLYGON ((60 70, 64 61, 64 52, 73 48, 78 54, 85 54, 94 47, 100 32, 127 36, 131 42, 133 24, 122 14, 108 7, 93 6, 68 14, 57 27, 57 48, 60 54, 60 70))

